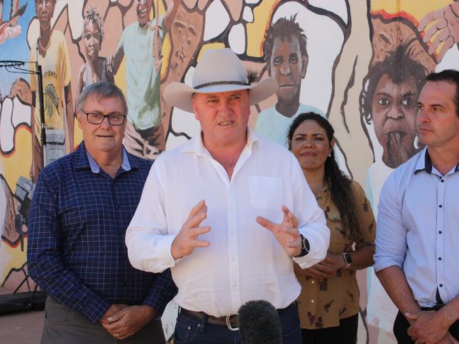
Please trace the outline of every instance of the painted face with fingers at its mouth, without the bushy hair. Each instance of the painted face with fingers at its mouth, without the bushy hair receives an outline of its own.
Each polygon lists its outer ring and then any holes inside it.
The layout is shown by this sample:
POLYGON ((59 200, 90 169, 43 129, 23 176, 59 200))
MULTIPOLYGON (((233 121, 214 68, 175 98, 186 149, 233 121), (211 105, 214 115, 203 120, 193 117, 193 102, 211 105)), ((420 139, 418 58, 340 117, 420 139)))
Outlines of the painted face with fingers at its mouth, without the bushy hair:
POLYGON ((396 168, 413 156, 416 137, 417 87, 409 78, 400 85, 387 74, 378 81, 371 102, 374 130, 383 147, 383 162, 396 168))

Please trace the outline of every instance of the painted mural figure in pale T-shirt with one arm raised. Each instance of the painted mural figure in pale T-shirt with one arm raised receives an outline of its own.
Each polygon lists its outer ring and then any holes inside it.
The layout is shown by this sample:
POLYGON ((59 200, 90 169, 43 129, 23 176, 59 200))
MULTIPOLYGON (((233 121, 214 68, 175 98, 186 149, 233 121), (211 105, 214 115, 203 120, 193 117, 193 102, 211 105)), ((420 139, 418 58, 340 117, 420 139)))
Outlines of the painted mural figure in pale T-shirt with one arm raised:
POLYGON ((126 99, 128 121, 124 147, 136 156, 154 160, 165 149, 165 133, 161 125, 160 73, 155 61, 155 39, 170 30, 180 1, 167 8, 162 18, 150 23, 153 0, 137 2, 137 22, 124 29, 113 55, 107 56, 109 70, 117 73, 121 60, 126 60, 126 99), (160 32, 156 32, 160 20, 160 32))

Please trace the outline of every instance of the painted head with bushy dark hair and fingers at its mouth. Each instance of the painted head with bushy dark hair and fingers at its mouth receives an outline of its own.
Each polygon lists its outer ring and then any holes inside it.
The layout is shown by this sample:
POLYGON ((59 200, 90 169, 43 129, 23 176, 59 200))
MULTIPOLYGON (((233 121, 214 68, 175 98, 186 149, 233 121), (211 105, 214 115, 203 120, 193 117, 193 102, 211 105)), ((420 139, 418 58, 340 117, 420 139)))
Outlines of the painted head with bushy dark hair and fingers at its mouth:
POLYGON ((398 47, 371 68, 363 103, 365 121, 373 122, 383 147, 382 160, 390 168, 400 166, 419 151, 416 102, 427 70, 410 59, 406 50, 406 46, 398 47))

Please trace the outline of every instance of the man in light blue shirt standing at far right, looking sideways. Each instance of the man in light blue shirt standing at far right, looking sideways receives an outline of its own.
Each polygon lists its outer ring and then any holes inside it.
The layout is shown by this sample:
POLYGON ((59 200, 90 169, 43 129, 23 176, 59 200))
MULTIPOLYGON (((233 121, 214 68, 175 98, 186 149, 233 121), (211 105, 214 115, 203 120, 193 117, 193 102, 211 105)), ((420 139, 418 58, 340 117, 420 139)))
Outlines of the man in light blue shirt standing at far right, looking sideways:
POLYGON ((427 75, 417 130, 427 147, 381 190, 374 269, 398 307, 398 343, 459 339, 459 72, 427 75))

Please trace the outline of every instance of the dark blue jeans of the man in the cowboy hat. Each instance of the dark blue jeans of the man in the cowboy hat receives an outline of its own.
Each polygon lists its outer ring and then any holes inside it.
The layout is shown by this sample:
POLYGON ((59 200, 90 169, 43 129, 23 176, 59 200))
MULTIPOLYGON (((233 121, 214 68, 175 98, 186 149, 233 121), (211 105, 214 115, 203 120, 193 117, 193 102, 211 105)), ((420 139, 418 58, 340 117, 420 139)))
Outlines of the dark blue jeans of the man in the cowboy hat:
MULTIPOLYGON (((302 344, 296 303, 278 310, 282 328, 282 344, 302 344)), ((175 325, 174 344, 240 344, 239 331, 230 331, 227 326, 206 324, 202 319, 179 313, 175 325)))

